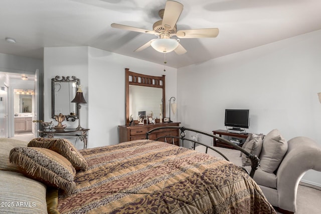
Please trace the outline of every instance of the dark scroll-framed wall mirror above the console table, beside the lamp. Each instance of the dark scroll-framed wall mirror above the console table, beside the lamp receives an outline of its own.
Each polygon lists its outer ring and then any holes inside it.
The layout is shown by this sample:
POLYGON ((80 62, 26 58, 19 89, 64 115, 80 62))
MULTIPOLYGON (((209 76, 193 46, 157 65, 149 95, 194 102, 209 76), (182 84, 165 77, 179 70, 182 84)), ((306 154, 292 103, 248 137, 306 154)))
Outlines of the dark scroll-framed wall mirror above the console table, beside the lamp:
POLYGON ((56 76, 51 79, 51 117, 53 119, 60 113, 65 115, 66 120, 78 119, 77 103, 71 101, 76 96, 79 85, 80 80, 75 76, 56 76))

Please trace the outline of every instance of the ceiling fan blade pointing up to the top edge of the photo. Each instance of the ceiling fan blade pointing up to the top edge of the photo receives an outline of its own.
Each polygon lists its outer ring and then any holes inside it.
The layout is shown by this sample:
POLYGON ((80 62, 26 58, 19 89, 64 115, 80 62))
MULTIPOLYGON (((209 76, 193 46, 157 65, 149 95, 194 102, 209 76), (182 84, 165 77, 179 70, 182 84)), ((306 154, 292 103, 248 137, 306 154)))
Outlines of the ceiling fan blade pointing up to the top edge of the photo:
POLYGON ((173 29, 181 16, 182 11, 183 5, 181 3, 167 1, 162 22, 164 28, 168 30, 173 29))

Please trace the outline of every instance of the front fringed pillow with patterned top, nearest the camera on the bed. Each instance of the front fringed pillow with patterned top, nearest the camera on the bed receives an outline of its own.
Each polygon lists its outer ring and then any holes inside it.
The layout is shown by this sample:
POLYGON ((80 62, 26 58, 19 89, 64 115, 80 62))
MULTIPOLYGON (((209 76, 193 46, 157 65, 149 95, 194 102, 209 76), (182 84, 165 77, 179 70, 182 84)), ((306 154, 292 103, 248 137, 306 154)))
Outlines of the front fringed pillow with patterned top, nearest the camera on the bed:
POLYGON ((46 148, 16 147, 9 160, 18 165, 27 177, 55 186, 71 193, 75 187, 75 168, 62 155, 46 148))

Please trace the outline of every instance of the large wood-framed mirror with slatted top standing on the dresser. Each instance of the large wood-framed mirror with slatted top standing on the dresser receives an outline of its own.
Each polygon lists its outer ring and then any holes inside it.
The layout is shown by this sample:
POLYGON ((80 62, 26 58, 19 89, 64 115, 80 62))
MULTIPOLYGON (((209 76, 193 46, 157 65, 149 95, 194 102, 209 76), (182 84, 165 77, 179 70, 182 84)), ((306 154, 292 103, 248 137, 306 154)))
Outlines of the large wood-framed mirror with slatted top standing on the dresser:
POLYGON ((166 115, 165 105, 165 75, 161 77, 138 74, 125 69, 126 86, 126 124, 130 115, 137 121, 138 112, 146 112, 148 116, 153 113, 159 119, 162 113, 166 115))

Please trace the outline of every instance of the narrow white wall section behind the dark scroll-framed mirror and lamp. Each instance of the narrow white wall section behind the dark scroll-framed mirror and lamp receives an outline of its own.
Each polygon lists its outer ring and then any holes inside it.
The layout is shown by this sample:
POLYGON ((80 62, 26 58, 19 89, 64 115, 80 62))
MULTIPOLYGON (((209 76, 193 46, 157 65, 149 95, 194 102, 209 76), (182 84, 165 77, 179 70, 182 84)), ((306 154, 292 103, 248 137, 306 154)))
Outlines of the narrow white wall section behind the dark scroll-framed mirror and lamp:
MULTIPOLYGON (((61 47, 44 49, 44 121, 58 122, 51 118, 51 79, 56 76, 75 76, 80 79, 80 85, 86 101, 88 101, 88 47, 61 47)), ((80 109, 80 125, 88 128, 88 103, 80 109)), ((76 128, 78 120, 64 121, 68 128, 76 128)), ((80 141, 78 141, 80 142, 80 141)), ((81 148, 80 143, 77 145, 81 148)))

